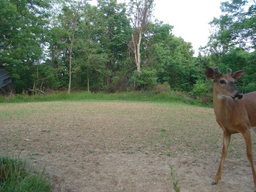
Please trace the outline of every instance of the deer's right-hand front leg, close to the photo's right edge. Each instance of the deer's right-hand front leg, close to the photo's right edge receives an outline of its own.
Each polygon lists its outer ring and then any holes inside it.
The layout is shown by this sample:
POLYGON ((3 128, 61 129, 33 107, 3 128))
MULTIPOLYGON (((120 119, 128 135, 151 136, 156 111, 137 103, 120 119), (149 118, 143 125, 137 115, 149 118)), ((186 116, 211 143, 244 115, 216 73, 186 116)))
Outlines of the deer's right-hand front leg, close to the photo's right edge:
POLYGON ((253 182, 254 182, 254 192, 256 192, 256 173, 254 169, 253 164, 253 155, 252 155, 252 146, 251 146, 251 132, 250 130, 246 130, 242 133, 245 143, 246 143, 246 152, 247 152, 247 158, 251 164, 251 170, 252 170, 252 176, 253 176, 253 182))

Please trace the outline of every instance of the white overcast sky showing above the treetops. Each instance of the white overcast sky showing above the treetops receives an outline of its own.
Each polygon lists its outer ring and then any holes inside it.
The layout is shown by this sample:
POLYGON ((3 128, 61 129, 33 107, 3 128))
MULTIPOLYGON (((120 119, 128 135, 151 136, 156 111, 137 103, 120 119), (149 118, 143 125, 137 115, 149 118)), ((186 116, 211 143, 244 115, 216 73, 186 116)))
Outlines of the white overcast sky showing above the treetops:
MULTIPOLYGON (((164 24, 174 26, 173 34, 191 42, 198 55, 198 48, 205 46, 208 37, 208 25, 214 17, 221 14, 221 2, 225 0, 154 0, 154 16, 164 24)), ((227 0, 226 0, 227 1, 227 0)), ((93 0, 92 2, 96 2, 93 0)), ((129 3, 129 0, 117 0, 129 3)), ((95 5, 95 4, 94 4, 95 5)))

